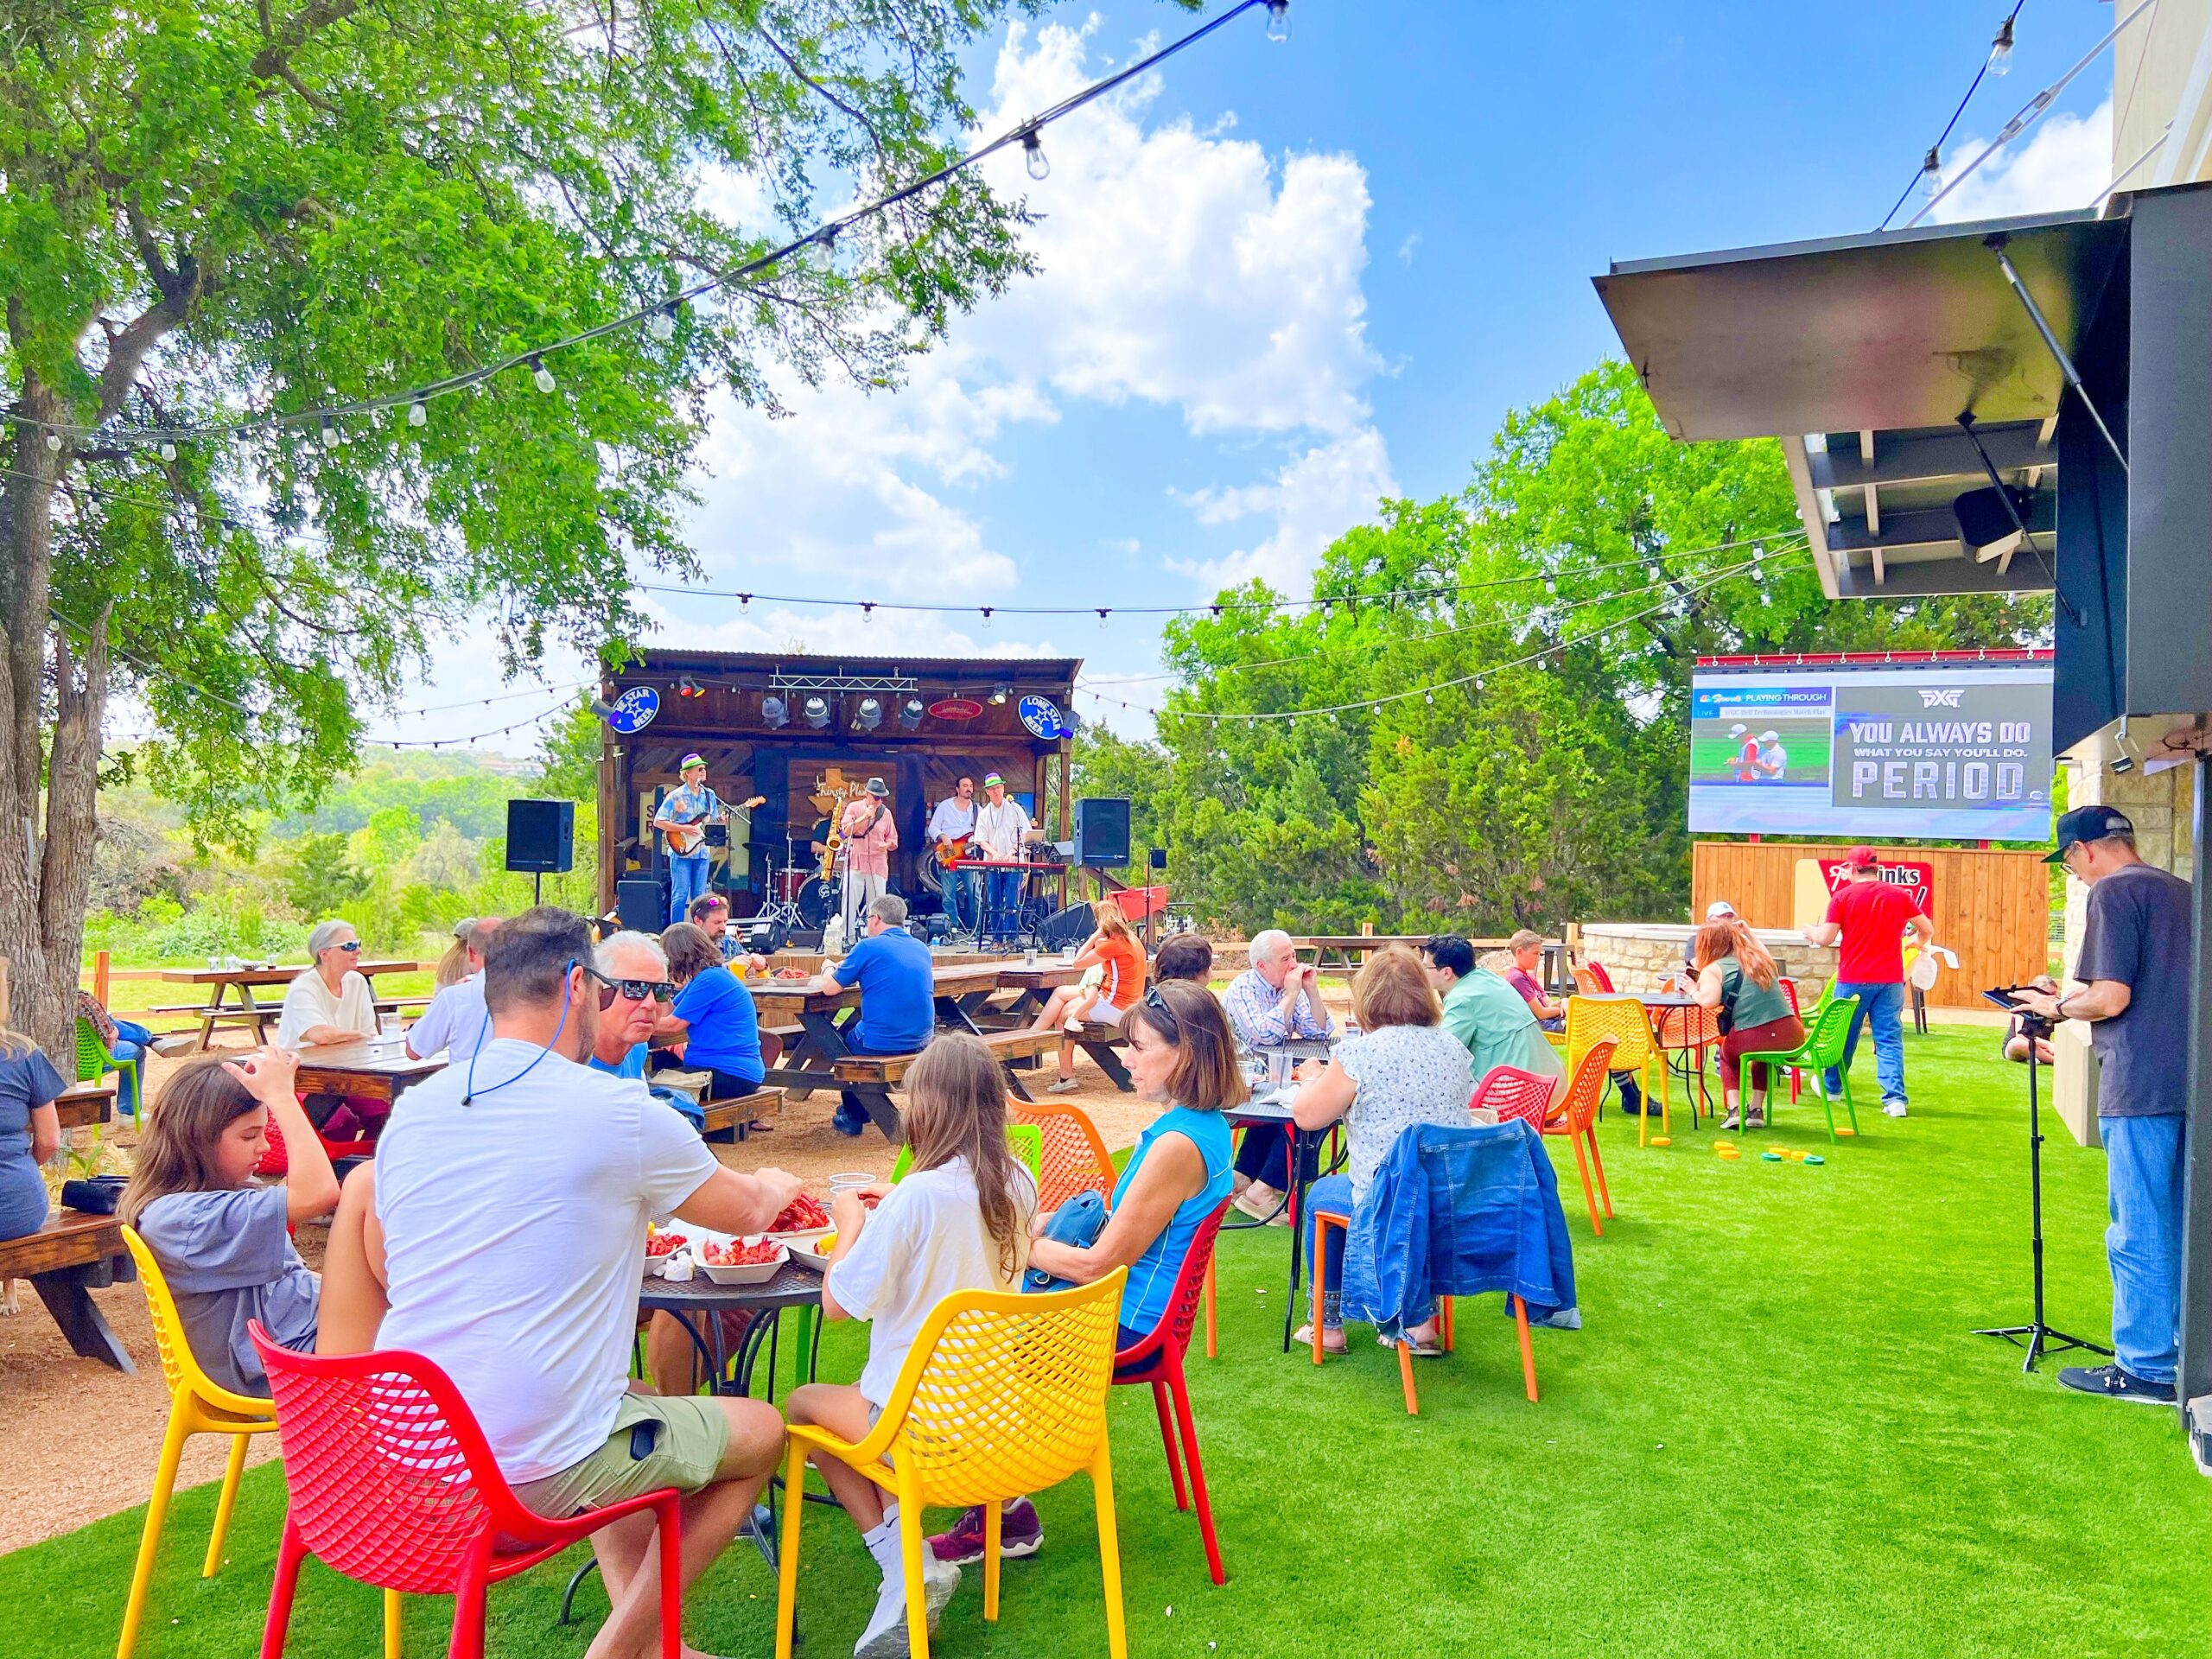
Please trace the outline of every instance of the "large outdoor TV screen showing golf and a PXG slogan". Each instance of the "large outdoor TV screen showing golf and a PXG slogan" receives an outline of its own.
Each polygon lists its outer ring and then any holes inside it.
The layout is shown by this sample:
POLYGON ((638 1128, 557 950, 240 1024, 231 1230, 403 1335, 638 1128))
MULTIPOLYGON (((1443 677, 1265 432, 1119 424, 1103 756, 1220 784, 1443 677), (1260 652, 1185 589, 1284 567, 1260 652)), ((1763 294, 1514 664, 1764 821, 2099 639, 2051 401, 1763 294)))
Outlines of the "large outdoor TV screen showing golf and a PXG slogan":
POLYGON ((2046 841, 2051 664, 1699 668, 1690 834, 2046 841))

